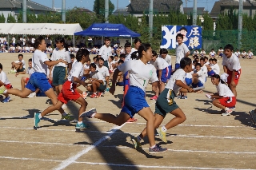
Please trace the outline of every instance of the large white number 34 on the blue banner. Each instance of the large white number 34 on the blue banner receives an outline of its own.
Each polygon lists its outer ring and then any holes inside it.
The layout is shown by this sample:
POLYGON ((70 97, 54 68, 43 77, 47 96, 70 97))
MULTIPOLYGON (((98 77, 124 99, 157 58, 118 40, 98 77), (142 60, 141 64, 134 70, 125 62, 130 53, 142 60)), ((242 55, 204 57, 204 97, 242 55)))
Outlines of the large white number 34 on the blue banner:
MULTIPOLYGON (((176 26, 173 26, 170 30, 167 26, 162 26, 162 34, 166 34, 162 37, 166 39, 166 44, 161 45, 160 48, 175 49, 176 48, 176 26), (170 46, 171 45, 171 46, 170 46)), ((163 40, 162 40, 163 42, 163 40)))

